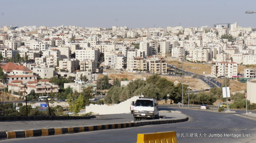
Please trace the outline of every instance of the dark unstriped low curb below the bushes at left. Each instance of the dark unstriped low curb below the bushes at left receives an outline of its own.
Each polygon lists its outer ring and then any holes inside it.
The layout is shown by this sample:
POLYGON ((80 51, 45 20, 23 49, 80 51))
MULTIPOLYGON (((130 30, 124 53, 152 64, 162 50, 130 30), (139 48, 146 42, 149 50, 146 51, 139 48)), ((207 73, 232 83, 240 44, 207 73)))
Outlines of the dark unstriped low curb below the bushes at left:
POLYGON ((91 119, 91 116, 2 116, 1 121, 20 121, 20 120, 68 120, 68 119, 91 119))

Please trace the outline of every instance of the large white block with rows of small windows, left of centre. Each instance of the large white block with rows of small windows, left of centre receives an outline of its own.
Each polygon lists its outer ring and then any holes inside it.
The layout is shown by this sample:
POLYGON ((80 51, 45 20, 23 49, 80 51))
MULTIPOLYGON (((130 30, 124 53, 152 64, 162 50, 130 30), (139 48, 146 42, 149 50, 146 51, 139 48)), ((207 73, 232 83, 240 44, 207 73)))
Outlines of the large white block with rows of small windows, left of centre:
POLYGON ((76 50, 76 59, 79 61, 83 61, 83 60, 98 61, 98 50, 94 48, 85 48, 85 49, 76 50))

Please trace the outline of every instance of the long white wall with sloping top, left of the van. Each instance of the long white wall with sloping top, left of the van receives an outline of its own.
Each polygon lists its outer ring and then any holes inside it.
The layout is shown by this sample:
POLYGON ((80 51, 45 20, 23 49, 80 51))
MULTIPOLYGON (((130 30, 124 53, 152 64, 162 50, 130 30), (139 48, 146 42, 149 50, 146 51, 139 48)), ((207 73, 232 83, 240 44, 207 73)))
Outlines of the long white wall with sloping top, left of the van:
POLYGON ((93 105, 90 104, 89 106, 86 106, 86 112, 93 112, 99 115, 105 115, 105 114, 122 114, 122 113, 131 113, 130 106, 131 101, 136 101, 139 98, 139 96, 134 96, 130 99, 125 100, 124 102, 121 102, 119 104, 114 105, 93 105))

